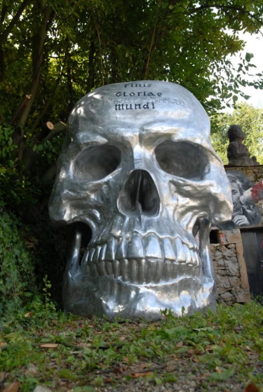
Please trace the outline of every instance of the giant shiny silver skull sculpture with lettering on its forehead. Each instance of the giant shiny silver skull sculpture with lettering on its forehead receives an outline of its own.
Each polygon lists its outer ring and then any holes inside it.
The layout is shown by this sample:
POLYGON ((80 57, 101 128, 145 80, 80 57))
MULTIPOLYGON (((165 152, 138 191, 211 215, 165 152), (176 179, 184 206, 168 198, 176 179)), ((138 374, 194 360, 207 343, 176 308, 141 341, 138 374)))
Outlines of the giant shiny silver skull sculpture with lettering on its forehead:
POLYGON ((81 98, 68 120, 49 213, 75 225, 66 311, 157 319, 215 307, 209 231, 231 219, 231 191, 209 118, 179 85, 117 83, 81 98))

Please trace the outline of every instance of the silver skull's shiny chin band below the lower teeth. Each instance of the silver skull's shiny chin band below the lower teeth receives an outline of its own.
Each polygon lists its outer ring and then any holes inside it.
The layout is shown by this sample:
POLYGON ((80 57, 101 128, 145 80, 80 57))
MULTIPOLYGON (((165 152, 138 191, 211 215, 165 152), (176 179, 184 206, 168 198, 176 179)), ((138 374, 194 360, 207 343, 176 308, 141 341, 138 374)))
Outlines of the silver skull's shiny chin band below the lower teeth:
POLYGON ((158 320, 161 310, 174 315, 191 315, 198 310, 215 309, 213 282, 182 277, 176 281, 153 286, 135 286, 113 278, 95 278, 92 282, 65 281, 64 310, 80 316, 106 316, 158 320))

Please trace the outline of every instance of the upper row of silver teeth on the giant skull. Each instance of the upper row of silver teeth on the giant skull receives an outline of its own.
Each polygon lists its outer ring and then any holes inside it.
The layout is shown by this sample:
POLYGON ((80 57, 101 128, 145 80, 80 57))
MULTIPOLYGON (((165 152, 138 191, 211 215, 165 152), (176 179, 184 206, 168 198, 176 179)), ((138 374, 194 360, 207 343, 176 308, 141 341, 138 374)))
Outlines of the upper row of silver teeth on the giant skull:
POLYGON ((180 237, 170 239, 168 237, 158 238, 156 235, 142 237, 138 233, 133 233, 129 239, 125 237, 119 240, 111 237, 103 244, 96 244, 88 247, 83 256, 82 263, 96 263, 106 260, 121 259, 167 259, 178 263, 192 264, 199 266, 200 258, 196 246, 192 249, 182 242, 180 237))

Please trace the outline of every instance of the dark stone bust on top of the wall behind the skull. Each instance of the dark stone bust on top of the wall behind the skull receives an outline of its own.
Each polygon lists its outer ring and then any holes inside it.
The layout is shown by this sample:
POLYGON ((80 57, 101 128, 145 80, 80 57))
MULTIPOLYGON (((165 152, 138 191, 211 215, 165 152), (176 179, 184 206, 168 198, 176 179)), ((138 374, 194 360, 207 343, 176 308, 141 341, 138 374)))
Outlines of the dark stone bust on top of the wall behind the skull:
POLYGON ((227 148, 228 164, 231 166, 253 166, 255 162, 250 158, 249 151, 243 140, 244 134, 238 125, 230 125, 227 131, 229 145, 227 148))

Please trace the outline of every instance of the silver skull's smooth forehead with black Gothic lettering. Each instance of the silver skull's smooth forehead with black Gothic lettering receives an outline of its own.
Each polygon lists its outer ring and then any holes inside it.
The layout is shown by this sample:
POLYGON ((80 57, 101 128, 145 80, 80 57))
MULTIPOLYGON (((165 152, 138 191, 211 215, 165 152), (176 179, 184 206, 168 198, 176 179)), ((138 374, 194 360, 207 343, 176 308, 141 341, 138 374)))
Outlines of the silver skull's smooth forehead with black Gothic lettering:
POLYGON ((107 143, 130 137, 134 143, 168 136, 210 144, 210 122, 192 93, 174 83, 136 81, 97 88, 81 98, 69 116, 71 140, 107 143), (136 139, 136 136, 138 137, 136 139))

